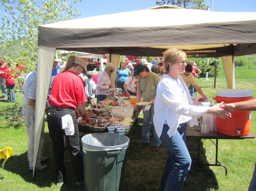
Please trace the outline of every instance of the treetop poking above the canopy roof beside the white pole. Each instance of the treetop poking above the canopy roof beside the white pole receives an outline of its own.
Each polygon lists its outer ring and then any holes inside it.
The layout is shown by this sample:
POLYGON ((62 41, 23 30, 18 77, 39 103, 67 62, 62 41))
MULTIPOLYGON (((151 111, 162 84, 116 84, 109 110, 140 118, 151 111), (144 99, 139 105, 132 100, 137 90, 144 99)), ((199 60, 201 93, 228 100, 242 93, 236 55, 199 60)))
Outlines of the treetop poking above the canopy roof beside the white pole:
POLYGON ((172 4, 178 7, 183 7, 186 9, 203 9, 208 10, 209 6, 203 4, 204 0, 161 0, 156 1, 156 4, 172 4))

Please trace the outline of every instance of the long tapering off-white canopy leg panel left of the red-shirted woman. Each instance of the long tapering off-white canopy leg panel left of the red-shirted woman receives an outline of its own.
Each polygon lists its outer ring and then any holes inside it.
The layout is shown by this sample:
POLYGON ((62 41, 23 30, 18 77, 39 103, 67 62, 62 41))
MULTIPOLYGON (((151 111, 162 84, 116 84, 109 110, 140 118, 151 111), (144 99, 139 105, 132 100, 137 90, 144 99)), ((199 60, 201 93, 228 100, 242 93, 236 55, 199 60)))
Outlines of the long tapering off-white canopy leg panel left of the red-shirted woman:
POLYGON ((55 48, 38 47, 38 63, 36 77, 36 114, 35 114, 35 142, 34 142, 34 171, 36 167, 36 158, 39 149, 39 142, 44 123, 45 104, 48 95, 50 79, 52 75, 52 66, 55 55, 55 48))

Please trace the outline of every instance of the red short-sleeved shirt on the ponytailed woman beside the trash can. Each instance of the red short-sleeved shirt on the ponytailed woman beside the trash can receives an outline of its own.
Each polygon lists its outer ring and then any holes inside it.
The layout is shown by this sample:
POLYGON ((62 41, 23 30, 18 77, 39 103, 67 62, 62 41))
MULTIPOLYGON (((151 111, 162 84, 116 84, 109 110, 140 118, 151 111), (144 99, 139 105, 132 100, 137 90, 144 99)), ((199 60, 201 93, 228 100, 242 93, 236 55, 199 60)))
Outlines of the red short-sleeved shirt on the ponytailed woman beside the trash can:
POLYGON ((52 92, 49 104, 56 107, 74 107, 87 102, 84 82, 76 73, 63 71, 55 76, 52 82, 52 92))

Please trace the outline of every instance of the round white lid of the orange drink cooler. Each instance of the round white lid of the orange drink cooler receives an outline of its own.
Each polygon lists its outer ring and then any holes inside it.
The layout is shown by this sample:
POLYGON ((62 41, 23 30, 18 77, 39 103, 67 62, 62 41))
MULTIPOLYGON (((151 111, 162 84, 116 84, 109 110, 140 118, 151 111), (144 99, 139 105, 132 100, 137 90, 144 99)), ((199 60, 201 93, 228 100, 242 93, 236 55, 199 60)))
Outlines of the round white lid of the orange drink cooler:
POLYGON ((252 96, 250 89, 220 89, 217 91, 217 96, 227 98, 244 98, 252 96))

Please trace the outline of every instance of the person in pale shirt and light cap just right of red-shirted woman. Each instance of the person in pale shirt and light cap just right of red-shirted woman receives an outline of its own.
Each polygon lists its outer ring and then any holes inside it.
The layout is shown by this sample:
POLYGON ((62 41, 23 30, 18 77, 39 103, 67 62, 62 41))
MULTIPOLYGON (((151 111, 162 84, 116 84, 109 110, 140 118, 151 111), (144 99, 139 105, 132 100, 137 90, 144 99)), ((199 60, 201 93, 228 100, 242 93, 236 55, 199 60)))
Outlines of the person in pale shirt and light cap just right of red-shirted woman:
POLYGON ((95 90, 96 90, 96 84, 93 81, 93 71, 88 71, 87 72, 87 78, 86 80, 84 80, 84 84, 85 84, 85 93, 86 93, 86 97, 88 99, 88 102, 86 103, 86 107, 88 104, 95 104, 96 100, 95 100, 95 90))

